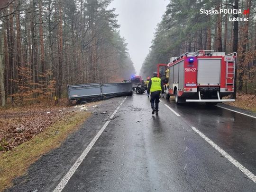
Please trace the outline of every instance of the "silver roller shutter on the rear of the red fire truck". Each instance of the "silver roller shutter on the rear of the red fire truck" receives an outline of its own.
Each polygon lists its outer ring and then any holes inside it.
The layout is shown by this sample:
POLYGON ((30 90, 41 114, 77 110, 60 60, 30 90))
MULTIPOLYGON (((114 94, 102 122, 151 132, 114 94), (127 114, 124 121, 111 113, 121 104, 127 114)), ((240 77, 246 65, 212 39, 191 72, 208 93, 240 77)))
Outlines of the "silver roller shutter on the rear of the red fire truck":
POLYGON ((198 59, 197 82, 199 84, 220 83, 221 59, 198 59))

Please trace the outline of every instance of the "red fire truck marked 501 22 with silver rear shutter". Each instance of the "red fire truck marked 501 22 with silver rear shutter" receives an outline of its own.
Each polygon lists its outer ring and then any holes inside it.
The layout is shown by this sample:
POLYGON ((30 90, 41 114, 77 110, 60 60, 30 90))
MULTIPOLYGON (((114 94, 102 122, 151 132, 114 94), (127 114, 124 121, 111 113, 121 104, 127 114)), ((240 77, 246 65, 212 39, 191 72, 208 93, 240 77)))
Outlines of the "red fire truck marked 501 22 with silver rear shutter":
POLYGON ((171 58, 169 64, 158 64, 158 75, 165 84, 165 97, 175 95, 176 104, 206 102, 216 104, 234 92, 234 75, 237 53, 225 55, 213 50, 186 52, 171 58), (163 68, 169 69, 169 78, 163 68))

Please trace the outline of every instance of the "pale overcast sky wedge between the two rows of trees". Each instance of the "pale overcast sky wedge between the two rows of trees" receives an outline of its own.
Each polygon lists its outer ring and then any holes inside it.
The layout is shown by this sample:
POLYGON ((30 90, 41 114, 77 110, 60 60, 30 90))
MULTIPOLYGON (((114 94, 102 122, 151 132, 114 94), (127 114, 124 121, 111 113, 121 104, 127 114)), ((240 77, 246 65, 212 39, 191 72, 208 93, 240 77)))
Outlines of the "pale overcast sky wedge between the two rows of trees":
POLYGON ((169 0, 113 0, 110 5, 119 14, 120 34, 128 43, 128 52, 137 75, 168 2, 169 0))

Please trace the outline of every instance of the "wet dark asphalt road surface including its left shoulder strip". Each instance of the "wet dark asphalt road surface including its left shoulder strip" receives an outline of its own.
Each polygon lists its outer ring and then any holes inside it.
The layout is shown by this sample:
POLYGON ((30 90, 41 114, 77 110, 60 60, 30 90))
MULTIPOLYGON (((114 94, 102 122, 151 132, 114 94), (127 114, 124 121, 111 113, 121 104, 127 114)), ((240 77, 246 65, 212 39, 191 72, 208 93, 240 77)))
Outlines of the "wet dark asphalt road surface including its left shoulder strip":
MULTIPOLYGON (((111 115, 121 100, 104 101, 98 110, 111 115)), ((172 99, 161 100, 157 117, 151 115, 145 94, 128 97, 63 192, 256 192, 256 183, 191 128, 256 175, 256 118, 216 106, 176 106, 172 99)), ((67 139, 70 144, 39 159, 8 191, 53 191, 104 125, 106 117, 96 116, 67 139)))

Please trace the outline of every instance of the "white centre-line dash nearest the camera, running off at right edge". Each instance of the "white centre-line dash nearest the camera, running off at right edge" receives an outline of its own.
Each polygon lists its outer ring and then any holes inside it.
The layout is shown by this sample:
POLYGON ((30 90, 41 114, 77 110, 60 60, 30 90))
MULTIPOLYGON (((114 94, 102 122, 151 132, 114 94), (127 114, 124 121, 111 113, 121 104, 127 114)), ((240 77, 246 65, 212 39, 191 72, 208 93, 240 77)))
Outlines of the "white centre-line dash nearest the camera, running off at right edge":
POLYGON ((195 127, 191 127, 197 134, 199 134, 206 142, 208 142, 214 149, 218 150, 221 155, 227 158, 234 166, 238 167, 248 178, 250 178, 254 183, 256 183, 256 176, 250 172, 246 167, 241 165, 236 159, 231 157, 226 151, 222 150, 217 144, 211 141, 207 136, 205 136, 201 131, 195 127))

